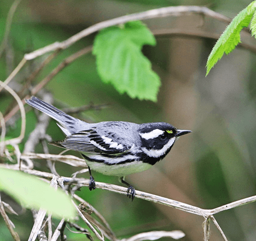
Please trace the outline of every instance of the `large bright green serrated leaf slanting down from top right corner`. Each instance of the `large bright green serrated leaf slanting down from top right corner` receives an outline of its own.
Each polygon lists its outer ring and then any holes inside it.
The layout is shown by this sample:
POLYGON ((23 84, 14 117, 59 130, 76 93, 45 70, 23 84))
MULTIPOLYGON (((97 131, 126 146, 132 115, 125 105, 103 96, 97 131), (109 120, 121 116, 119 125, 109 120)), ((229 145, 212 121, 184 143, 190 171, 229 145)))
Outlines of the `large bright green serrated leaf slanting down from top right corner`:
POLYGON ((238 13, 238 15, 234 17, 232 22, 228 25, 226 30, 216 42, 211 54, 208 57, 206 64, 206 76, 224 53, 229 54, 236 47, 236 45, 241 42, 240 32, 243 27, 249 26, 255 9, 256 1, 252 2, 247 6, 247 8, 238 13))

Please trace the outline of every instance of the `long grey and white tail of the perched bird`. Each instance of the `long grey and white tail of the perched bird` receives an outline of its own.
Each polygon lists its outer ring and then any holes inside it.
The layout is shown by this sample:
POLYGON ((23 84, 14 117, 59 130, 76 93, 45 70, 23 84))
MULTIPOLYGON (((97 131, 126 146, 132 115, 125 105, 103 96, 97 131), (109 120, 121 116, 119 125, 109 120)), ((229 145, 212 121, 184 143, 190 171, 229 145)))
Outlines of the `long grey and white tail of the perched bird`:
POLYGON ((26 100, 26 103, 29 106, 34 107, 42 111, 43 113, 47 114, 54 120, 57 120, 61 124, 61 126, 58 126, 66 135, 70 135, 73 133, 77 133, 81 130, 85 130, 86 126, 88 125, 88 123, 64 113, 58 108, 44 102, 41 99, 38 99, 35 96, 32 96, 30 99, 26 100))

